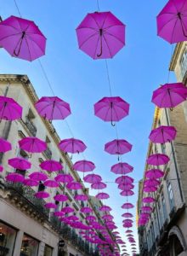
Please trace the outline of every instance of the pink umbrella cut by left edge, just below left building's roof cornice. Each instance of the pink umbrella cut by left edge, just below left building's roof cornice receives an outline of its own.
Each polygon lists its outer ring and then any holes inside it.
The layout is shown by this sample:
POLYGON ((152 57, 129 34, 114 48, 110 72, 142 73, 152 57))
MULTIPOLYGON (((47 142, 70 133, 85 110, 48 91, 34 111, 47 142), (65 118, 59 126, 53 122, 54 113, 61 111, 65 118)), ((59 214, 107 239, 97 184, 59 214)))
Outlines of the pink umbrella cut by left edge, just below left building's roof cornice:
POLYGON ((14 99, 6 96, 0 96, 0 121, 2 119, 13 121, 15 119, 20 119, 21 116, 22 107, 20 107, 20 105, 15 102, 14 99))

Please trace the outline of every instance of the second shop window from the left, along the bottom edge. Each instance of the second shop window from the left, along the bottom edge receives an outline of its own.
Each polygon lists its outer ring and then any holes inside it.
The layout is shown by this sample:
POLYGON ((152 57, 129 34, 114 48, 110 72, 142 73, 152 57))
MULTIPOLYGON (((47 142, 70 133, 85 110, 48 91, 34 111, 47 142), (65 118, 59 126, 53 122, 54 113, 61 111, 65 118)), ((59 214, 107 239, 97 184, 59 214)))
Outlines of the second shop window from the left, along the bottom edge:
POLYGON ((31 236, 24 234, 20 248, 20 256, 37 256, 39 242, 31 236))

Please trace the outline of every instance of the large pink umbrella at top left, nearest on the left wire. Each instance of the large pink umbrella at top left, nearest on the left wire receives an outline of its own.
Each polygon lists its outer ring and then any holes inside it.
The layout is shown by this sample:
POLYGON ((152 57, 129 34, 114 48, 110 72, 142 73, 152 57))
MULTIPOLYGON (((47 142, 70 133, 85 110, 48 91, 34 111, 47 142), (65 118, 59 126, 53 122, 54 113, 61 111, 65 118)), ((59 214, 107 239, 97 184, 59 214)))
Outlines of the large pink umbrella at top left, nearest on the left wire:
POLYGON ((33 61, 45 54, 46 38, 33 21, 10 16, 0 23, 0 45, 14 57, 33 61))

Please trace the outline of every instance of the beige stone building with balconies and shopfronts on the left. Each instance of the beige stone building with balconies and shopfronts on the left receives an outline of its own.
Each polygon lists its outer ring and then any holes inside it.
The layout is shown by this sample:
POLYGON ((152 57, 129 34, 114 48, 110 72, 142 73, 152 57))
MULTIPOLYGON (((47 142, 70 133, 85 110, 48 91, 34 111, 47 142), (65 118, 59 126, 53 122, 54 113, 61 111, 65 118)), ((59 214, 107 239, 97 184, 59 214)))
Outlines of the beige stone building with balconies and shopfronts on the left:
MULTIPOLYGON (((88 256, 98 255, 96 247, 88 244, 82 236, 54 217, 53 211, 44 207, 44 203, 52 201, 54 195, 62 194, 63 188, 48 189, 50 198, 46 201, 37 199, 34 194, 43 189, 39 187, 26 187, 19 183, 8 183, 5 176, 9 172, 19 172, 8 166, 8 159, 15 156, 30 158, 31 170, 25 172, 27 177, 31 172, 39 171, 38 166, 43 160, 53 159, 62 162, 65 172, 70 173, 75 180, 80 181, 77 172, 72 169, 71 159, 68 154, 63 154, 59 148, 59 136, 54 126, 46 119, 42 119, 34 103, 37 102, 37 94, 26 75, 0 75, 1 95, 14 98, 23 107, 22 119, 13 122, 2 120, 0 123, 0 137, 12 143, 12 150, 0 154, 0 164, 3 172, 0 174, 0 255, 3 256, 88 256), (18 141, 22 137, 38 137, 48 144, 48 149, 41 154, 27 154, 20 150, 18 141)), ((54 174, 50 174, 51 177, 54 174)), ((81 207, 92 207, 93 215, 101 222, 94 200, 89 197, 87 202, 75 201, 77 194, 88 195, 88 189, 73 192, 65 188, 65 195, 69 200, 59 202, 61 207, 73 207, 76 216, 83 224, 85 215, 80 212, 81 207)))

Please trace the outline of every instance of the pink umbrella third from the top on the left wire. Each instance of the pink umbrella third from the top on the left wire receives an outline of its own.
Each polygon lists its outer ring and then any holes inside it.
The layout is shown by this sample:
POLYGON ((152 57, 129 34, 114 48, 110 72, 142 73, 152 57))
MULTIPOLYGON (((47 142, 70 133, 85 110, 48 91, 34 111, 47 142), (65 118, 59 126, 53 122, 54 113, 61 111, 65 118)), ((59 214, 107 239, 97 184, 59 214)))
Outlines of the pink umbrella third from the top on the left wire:
POLYGON ((69 138, 62 140, 59 143, 59 149, 68 153, 80 153, 83 152, 87 146, 81 141, 75 138, 69 138))

